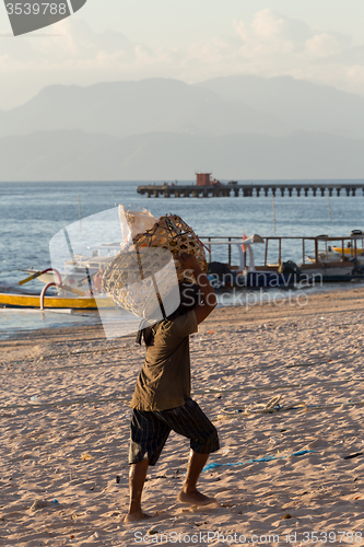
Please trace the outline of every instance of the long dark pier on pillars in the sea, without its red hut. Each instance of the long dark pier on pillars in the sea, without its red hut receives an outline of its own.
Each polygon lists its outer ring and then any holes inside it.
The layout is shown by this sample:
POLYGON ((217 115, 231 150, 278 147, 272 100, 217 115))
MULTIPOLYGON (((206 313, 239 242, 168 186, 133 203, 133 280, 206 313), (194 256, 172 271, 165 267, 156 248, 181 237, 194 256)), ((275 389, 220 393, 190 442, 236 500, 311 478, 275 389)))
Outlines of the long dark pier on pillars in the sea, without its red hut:
POLYGON ((260 197, 260 196, 364 196, 362 183, 254 183, 238 184, 235 182, 215 183, 207 186, 167 184, 138 186, 138 194, 151 198, 220 198, 220 197, 260 197), (362 191, 360 191, 362 190, 362 191))

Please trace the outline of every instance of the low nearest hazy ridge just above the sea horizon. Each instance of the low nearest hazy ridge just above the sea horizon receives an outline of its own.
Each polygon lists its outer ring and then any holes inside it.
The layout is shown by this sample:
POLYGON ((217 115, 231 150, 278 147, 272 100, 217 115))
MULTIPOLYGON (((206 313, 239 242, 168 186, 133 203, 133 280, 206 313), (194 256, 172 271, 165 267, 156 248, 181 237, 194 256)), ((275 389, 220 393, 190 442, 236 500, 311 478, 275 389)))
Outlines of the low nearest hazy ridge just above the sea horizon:
POLYGON ((363 178, 362 140, 297 131, 220 137, 153 132, 118 138, 39 131, 0 139, 0 181, 363 178))

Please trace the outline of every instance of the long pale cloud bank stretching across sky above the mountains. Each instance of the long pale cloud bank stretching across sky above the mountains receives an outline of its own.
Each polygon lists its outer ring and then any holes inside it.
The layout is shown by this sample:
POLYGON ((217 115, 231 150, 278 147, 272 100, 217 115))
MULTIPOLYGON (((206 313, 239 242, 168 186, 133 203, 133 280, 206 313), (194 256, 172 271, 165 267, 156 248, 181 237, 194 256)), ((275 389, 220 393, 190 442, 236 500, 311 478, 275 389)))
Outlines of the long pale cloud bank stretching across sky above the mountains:
POLYGON ((0 107, 21 104, 54 83, 152 77, 197 82, 236 73, 292 75, 364 94, 364 56, 350 36, 312 28, 270 9, 258 11, 250 23, 231 25, 231 35, 185 48, 149 47, 115 31, 95 33, 72 18, 40 37, 2 39, 0 107))

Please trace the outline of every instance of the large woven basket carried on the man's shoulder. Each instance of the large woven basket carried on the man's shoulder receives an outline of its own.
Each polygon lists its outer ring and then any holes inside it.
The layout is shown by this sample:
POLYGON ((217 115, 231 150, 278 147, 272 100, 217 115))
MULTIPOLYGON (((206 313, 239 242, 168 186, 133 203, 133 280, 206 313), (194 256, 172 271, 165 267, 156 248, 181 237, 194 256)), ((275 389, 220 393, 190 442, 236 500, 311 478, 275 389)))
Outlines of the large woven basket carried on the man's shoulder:
POLYGON ((192 229, 175 214, 161 217, 111 260, 103 275, 103 290, 125 310, 153 318, 161 311, 161 301, 165 307, 165 299, 186 277, 178 260, 171 260, 180 253, 195 255, 207 271, 203 245, 192 229))

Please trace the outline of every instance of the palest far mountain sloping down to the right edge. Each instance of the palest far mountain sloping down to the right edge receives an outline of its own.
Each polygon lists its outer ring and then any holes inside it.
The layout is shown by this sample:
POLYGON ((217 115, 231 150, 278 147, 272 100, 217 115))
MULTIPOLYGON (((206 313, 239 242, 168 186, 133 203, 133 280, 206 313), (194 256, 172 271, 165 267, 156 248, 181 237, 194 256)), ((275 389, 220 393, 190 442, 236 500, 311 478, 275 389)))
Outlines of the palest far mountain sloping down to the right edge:
POLYGON ((364 138, 364 97, 291 77, 233 75, 197 84, 224 101, 274 116, 306 131, 364 138))

